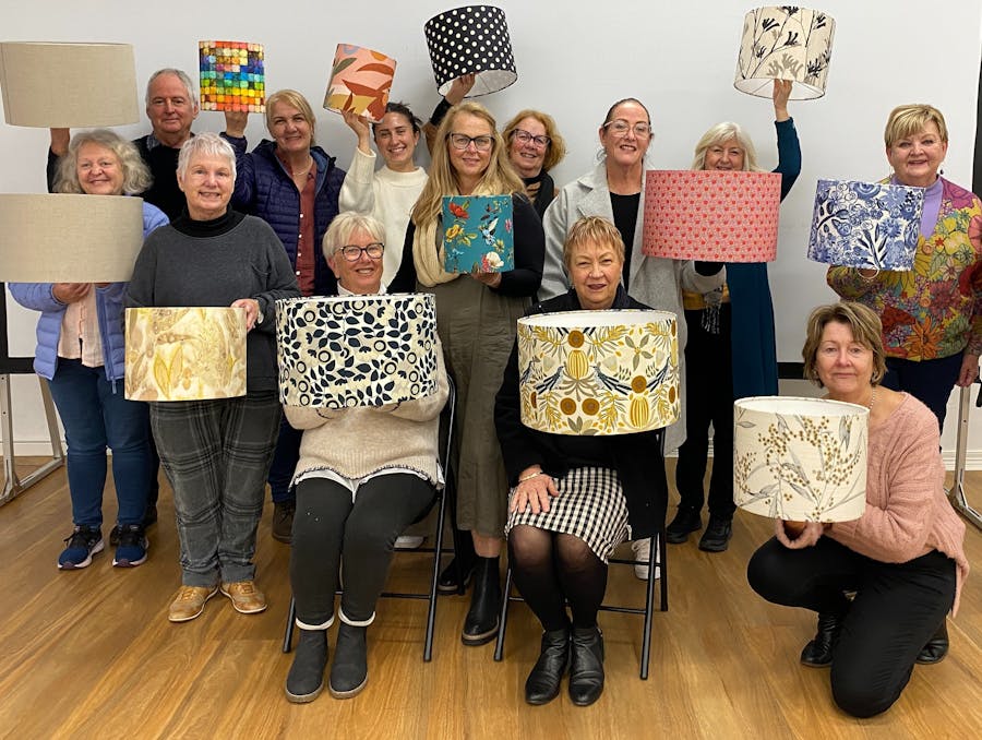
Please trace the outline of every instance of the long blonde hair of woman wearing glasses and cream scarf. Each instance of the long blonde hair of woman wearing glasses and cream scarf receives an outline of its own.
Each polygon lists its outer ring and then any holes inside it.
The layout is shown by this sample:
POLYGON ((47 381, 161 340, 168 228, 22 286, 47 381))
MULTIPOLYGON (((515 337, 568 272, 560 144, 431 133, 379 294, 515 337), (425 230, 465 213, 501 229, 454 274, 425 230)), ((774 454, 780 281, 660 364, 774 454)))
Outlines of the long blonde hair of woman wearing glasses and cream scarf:
POLYGON ((450 109, 436 130, 436 140, 433 142, 431 155, 430 179, 427 180, 427 184, 412 208, 412 222, 417 227, 434 223, 443 208, 444 196, 457 195, 460 192, 451 166, 446 141, 453 131, 454 121, 460 114, 470 114, 486 121, 491 127, 490 135, 494 142, 491 150, 491 162, 488 163, 488 169, 484 170, 476 189, 481 193, 500 195, 525 192, 525 186, 508 160, 508 153, 504 140, 498 133, 494 117, 482 105, 465 100, 450 109))

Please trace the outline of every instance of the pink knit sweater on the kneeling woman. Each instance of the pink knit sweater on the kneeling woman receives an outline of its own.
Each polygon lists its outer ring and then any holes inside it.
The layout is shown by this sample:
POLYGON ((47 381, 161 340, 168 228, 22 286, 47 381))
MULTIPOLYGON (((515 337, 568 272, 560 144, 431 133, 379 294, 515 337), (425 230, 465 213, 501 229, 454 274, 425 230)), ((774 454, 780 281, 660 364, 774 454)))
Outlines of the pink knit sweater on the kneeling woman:
POLYGON ((886 563, 944 552, 957 566, 954 616, 969 572, 965 523, 945 496, 937 418, 912 395, 903 395, 886 421, 870 428, 865 513, 834 524, 827 535, 886 563))

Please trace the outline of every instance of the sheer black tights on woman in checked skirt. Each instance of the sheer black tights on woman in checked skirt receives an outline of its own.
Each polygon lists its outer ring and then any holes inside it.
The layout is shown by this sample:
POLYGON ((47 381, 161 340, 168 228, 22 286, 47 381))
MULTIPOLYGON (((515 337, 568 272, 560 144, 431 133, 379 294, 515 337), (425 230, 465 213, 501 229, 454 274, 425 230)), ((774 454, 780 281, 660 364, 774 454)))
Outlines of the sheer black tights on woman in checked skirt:
POLYGON ((508 534, 508 558, 515 586, 547 632, 568 626, 566 601, 573 626, 597 625, 607 564, 585 541, 522 524, 508 534))

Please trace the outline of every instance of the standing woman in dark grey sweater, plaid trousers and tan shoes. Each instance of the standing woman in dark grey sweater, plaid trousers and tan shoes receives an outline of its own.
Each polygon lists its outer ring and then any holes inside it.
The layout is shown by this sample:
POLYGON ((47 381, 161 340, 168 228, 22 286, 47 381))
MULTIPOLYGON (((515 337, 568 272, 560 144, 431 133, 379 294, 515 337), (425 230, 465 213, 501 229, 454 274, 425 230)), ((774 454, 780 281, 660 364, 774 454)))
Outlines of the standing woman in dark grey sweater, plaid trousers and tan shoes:
POLYGON ((177 177, 188 210, 147 237, 127 306, 243 308, 249 332, 244 396, 149 405, 181 544, 182 585, 168 618, 185 622, 219 588, 241 613, 266 608, 252 558, 282 416, 274 305, 300 290, 270 225, 228 207, 236 182, 228 143, 214 133, 189 139, 177 177))

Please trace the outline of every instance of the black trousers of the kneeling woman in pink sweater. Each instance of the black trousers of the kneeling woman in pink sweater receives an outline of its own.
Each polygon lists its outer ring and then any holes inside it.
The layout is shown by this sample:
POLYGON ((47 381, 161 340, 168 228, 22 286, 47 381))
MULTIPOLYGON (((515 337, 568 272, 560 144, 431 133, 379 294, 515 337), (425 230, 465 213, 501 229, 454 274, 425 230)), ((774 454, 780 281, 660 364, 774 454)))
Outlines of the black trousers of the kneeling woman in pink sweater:
POLYGON ((943 552, 884 563, 828 537, 802 550, 773 538, 751 558, 746 577, 768 601, 845 618, 831 690, 855 717, 886 712, 899 699, 955 599, 955 561, 943 552), (855 592, 851 602, 846 590, 855 592))

